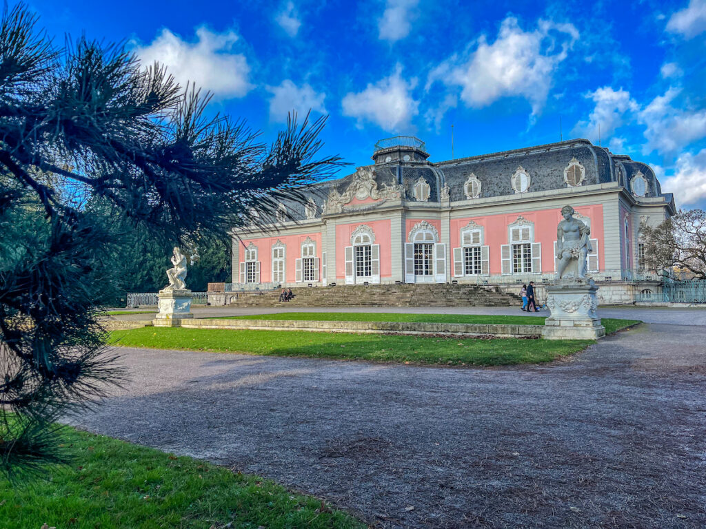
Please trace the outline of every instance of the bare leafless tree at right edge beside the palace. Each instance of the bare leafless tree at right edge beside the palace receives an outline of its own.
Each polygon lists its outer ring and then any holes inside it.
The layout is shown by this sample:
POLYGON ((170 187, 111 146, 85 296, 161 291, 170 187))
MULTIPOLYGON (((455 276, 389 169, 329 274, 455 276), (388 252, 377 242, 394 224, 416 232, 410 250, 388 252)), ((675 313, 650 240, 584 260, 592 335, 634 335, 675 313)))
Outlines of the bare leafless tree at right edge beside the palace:
POLYGON ((679 267, 706 279, 706 212, 680 210, 658 226, 640 226, 645 243, 645 264, 653 270, 679 267))

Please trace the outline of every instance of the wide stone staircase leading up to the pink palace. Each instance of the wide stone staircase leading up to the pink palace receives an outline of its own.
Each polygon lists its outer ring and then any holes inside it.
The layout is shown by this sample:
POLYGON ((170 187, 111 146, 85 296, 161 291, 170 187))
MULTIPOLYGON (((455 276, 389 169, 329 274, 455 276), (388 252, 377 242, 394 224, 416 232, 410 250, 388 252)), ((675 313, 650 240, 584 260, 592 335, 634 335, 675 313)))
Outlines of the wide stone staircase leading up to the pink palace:
POLYGON ((294 299, 280 302, 280 292, 228 293, 235 307, 508 307, 519 296, 496 286, 452 284, 345 285, 292 288, 294 299))

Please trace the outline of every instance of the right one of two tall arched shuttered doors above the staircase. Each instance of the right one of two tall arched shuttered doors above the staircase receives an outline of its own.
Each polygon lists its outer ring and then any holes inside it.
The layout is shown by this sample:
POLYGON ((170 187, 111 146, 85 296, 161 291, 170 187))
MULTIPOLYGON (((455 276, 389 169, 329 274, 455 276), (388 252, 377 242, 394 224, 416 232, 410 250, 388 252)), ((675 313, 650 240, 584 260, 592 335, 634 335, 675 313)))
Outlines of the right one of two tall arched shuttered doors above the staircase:
POLYGON ((446 245, 438 240, 438 231, 426 221, 409 231, 409 243, 405 244, 407 283, 446 282, 446 245))

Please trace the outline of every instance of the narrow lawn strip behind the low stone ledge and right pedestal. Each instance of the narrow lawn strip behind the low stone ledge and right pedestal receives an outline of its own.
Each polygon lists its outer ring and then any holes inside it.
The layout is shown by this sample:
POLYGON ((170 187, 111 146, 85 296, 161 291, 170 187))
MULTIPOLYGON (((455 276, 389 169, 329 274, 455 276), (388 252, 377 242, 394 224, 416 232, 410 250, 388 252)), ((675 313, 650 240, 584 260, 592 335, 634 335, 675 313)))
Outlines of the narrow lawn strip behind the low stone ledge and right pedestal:
MULTIPOLYGON (((277 312, 250 316, 225 316, 217 320, 312 320, 325 322, 419 322, 419 323, 496 323, 507 325, 544 325, 546 316, 493 316, 473 314, 397 314, 395 312, 277 312)), ((606 334, 632 327, 639 320, 604 318, 606 334)))

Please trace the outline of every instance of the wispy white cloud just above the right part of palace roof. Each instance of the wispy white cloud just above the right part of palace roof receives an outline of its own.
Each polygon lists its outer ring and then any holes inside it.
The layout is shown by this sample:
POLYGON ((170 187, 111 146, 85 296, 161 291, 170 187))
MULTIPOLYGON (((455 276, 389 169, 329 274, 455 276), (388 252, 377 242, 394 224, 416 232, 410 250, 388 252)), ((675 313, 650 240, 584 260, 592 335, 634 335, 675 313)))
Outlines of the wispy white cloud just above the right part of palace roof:
MULTIPOLYGON (((628 111, 638 111, 638 104, 630 98, 630 92, 622 88, 613 90, 604 86, 585 95, 595 103, 594 109, 588 116, 588 121, 579 121, 571 131, 580 138, 587 138, 592 142, 610 138, 616 128, 623 124, 623 118, 628 111)), ((618 138, 615 138, 617 141, 618 138)), ((614 144, 616 150, 622 144, 614 144)), ((613 147, 611 147, 612 149, 613 147)))

